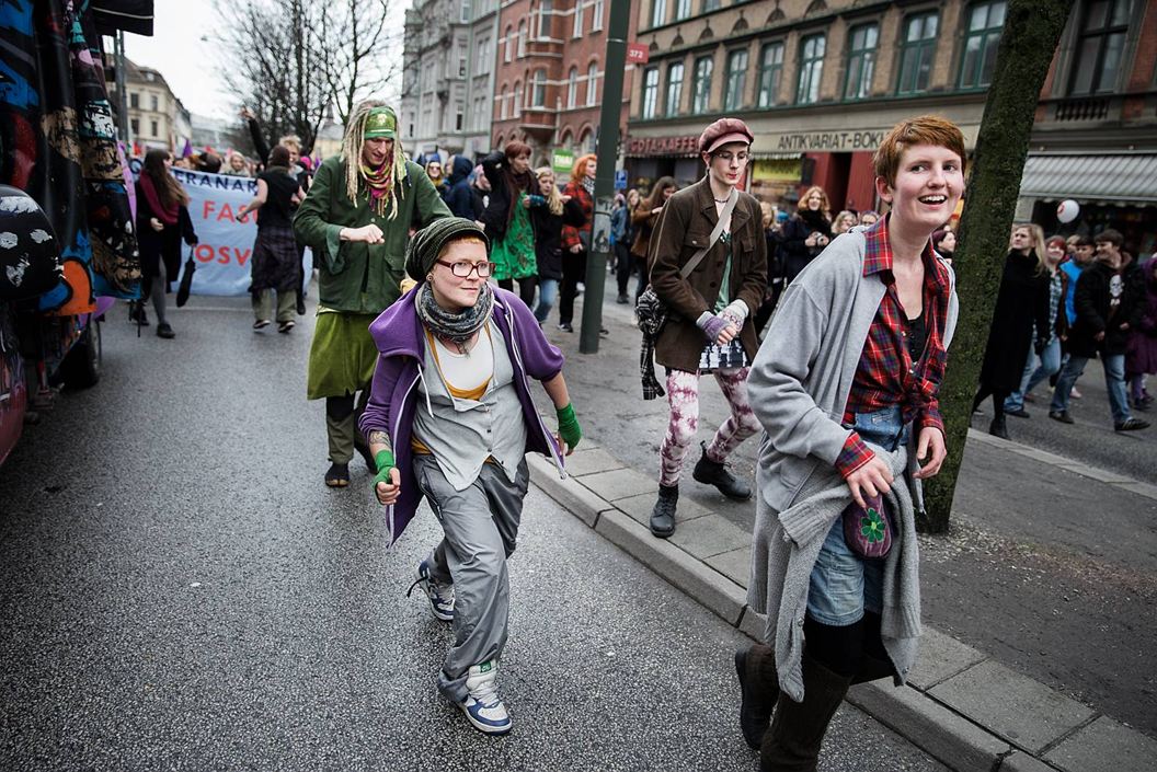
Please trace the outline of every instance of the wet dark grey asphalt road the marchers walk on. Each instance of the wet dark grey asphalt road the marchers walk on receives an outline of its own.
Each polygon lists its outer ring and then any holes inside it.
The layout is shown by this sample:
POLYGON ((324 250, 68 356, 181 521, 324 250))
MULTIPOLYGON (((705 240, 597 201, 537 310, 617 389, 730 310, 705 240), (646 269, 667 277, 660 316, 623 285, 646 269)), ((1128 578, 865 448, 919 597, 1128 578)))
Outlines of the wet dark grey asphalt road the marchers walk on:
MULTIPOLYGON (((526 500, 500 675, 515 729, 435 690, 450 637, 385 549, 369 477, 322 484, 311 319, 250 331, 193 298, 177 337, 105 325, 104 378, 0 468, 0 769, 757 769, 736 726, 746 640, 561 511, 526 500)), ((823 770, 942 770, 845 705, 823 770)))

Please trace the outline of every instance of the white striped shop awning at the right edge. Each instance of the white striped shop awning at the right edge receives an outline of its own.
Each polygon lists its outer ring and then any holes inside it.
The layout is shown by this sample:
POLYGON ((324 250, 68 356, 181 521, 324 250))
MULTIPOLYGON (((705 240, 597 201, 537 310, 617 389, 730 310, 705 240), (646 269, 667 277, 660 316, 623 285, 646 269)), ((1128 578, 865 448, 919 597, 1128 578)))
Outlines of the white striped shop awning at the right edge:
POLYGON ((1030 155, 1020 198, 1157 203, 1157 154, 1030 155))

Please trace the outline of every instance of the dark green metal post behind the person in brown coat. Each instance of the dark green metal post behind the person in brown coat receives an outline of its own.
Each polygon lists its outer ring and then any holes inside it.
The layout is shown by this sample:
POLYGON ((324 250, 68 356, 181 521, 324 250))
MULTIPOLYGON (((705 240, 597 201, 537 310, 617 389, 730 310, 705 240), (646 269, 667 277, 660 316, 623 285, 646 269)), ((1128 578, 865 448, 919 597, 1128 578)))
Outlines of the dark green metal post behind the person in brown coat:
POLYGON ((606 261, 611 254, 611 203, 614 200, 614 165, 618 161, 622 70, 627 64, 629 17, 631 0, 611 0, 611 18, 606 30, 606 69, 603 75, 603 110, 598 124, 595 221, 590 231, 582 329, 578 336, 578 351, 582 354, 598 352, 598 331, 603 327, 603 289, 606 284, 606 261))

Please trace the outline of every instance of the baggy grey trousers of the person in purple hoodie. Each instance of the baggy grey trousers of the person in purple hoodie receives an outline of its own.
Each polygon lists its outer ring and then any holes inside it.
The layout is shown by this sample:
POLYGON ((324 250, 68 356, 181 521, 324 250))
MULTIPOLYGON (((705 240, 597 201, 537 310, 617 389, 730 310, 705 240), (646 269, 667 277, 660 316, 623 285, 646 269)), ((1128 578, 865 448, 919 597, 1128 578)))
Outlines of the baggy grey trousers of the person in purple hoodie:
POLYGON ((470 666, 500 659, 506 646, 507 558, 518 540, 530 472, 523 459, 511 483, 501 467, 484 463, 473 484, 458 491, 432 456, 415 455, 414 475, 445 533, 432 555, 430 573, 439 582, 454 582, 455 640, 437 685, 460 703, 466 698, 470 666))

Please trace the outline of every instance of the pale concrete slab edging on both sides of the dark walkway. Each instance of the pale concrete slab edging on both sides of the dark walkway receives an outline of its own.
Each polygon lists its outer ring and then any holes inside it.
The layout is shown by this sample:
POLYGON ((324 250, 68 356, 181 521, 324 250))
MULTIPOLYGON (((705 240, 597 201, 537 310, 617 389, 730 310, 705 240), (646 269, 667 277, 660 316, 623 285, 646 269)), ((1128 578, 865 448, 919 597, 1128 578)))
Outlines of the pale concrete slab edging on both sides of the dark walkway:
MULTIPOLYGON (((972 432, 970 441, 1001 440, 972 432)), ((1005 450, 1012 445, 1001 444, 1005 450)), ((533 483, 673 586, 761 639, 765 619, 746 604, 751 534, 688 499, 679 503, 676 534, 655 539, 647 528, 654 476, 587 439, 580 447, 568 459, 566 480, 550 461, 528 456, 533 483)), ((1040 463, 1071 466, 1032 448, 1015 452, 1040 463)), ((1088 467, 1079 472, 1157 498, 1157 487, 1088 467)), ((862 684, 848 702, 961 772, 1148 772, 1157 759, 1157 741, 927 625, 907 686, 862 684)))

